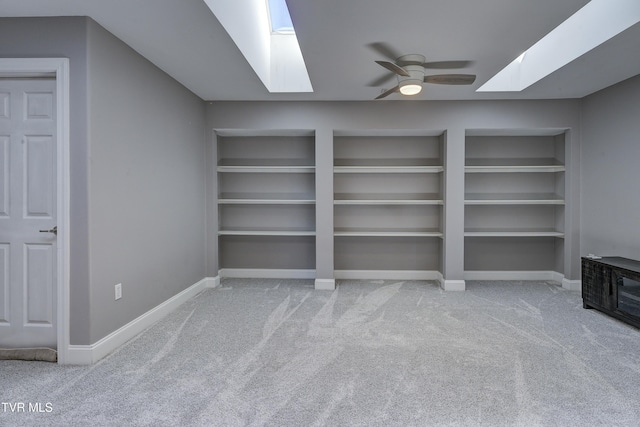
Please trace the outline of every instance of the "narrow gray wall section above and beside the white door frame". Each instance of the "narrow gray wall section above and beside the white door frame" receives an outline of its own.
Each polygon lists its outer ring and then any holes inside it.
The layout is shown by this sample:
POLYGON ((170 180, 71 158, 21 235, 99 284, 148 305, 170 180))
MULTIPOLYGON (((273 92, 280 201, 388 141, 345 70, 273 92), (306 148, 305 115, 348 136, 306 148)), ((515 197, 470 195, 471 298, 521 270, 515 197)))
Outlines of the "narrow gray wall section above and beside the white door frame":
POLYGON ((87 18, 0 18, 0 56, 63 57, 70 64, 71 344, 90 341, 87 18))

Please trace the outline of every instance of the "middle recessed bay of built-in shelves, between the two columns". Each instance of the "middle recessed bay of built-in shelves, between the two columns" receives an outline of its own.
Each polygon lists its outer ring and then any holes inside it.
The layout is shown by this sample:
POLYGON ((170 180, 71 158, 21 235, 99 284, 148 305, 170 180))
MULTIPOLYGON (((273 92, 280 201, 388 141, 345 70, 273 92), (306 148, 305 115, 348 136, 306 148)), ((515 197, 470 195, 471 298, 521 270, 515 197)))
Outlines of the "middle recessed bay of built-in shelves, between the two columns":
POLYGON ((439 271, 441 132, 336 131, 333 151, 336 277, 439 271))

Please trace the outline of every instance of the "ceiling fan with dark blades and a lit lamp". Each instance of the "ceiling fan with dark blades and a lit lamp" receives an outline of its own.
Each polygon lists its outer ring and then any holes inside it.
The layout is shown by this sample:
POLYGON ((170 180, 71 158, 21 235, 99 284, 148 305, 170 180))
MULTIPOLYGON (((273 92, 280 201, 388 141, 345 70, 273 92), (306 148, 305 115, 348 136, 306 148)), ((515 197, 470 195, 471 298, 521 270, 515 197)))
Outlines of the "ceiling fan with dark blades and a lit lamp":
POLYGON ((475 74, 426 74, 427 69, 451 70, 456 68, 465 68, 471 65, 471 61, 425 62, 426 58, 424 55, 397 55, 394 50, 385 43, 371 43, 369 47, 393 60, 393 62, 376 61, 377 64, 391 71, 391 73, 376 79, 371 82, 369 86, 379 86, 394 76, 398 79, 397 86, 384 91, 375 99, 385 98, 395 92, 400 92, 403 95, 417 95, 422 91, 423 83, 470 85, 476 80, 475 74))

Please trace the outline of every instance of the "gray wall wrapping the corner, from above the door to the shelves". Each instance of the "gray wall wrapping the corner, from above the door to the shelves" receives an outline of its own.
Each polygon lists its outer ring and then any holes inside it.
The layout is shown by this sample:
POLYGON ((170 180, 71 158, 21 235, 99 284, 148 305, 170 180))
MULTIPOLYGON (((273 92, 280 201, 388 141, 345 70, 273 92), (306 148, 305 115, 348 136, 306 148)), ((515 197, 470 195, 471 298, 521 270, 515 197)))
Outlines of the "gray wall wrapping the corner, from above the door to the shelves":
POLYGON ((93 344, 205 277, 204 102, 88 18, 1 18, 0 40, 70 59, 70 343, 93 344))

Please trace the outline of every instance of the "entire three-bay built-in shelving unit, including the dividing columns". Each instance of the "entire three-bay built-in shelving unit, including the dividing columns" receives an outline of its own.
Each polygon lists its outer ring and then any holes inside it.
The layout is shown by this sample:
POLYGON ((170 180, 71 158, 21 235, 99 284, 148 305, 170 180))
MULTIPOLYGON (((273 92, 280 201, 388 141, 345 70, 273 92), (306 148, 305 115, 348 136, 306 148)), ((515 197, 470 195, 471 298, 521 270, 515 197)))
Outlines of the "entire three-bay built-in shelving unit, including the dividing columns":
POLYGON ((221 276, 459 289, 573 268, 566 129, 318 135, 323 145, 315 130, 216 131, 221 276))

